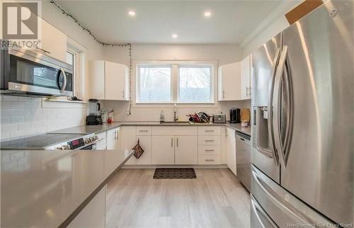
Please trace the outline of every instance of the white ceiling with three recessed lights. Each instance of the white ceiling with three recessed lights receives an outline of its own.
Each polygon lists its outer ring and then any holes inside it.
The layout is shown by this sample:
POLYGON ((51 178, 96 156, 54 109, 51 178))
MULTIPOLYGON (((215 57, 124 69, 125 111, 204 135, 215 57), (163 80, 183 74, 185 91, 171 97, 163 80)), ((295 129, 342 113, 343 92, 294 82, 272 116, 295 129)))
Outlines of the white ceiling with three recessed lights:
POLYGON ((104 42, 218 44, 244 40, 282 1, 56 2, 104 42))

